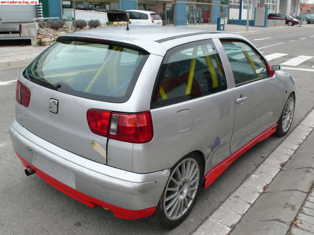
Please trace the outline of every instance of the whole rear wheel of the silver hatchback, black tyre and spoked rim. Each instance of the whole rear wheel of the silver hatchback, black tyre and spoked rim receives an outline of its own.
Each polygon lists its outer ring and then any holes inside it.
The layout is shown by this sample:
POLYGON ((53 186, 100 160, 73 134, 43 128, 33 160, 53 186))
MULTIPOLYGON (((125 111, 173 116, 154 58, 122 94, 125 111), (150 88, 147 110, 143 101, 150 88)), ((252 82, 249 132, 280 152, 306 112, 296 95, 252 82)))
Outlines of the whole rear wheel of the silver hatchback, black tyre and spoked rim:
POLYGON ((172 229, 180 225, 187 218, 195 205, 202 186, 203 172, 203 161, 200 155, 195 152, 187 154, 180 161, 178 161, 171 168, 169 179, 165 185, 163 193, 160 196, 156 211, 151 217, 149 217, 149 220, 153 224, 157 224, 165 229, 172 229), (183 164, 186 170, 189 169, 188 171, 183 170, 183 164), (192 168, 193 164, 195 165, 192 168), (178 171, 180 173, 181 180, 177 175, 178 171), (191 171, 190 174, 189 171, 191 171), (182 172, 184 173, 182 174, 182 172), (194 172, 195 175, 192 177, 194 172), (187 181, 187 179, 190 178, 188 175, 192 177, 189 182, 187 181), (174 179, 176 183, 172 179, 174 179), (193 181, 195 182, 193 183, 193 181), (192 187, 194 189, 196 186, 196 190, 190 191, 192 187), (176 191, 173 191, 172 193, 169 189, 171 189, 171 191, 176 189, 176 191), (173 196, 174 194, 176 194, 176 196, 173 196), (166 198, 168 198, 168 200, 166 200, 166 198), (172 206, 171 203, 173 204, 172 206), (181 206, 181 204, 183 206, 181 206), (167 207, 169 207, 169 212, 167 207), (171 213, 171 211, 173 212, 171 213))

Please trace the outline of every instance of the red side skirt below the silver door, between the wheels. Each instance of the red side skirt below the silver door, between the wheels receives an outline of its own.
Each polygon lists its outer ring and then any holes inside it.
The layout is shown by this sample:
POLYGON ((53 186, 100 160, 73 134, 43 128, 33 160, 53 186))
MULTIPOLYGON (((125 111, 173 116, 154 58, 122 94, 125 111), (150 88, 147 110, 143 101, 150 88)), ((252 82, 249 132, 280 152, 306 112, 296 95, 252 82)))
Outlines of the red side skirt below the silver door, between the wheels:
POLYGON ((205 175, 205 189, 214 183, 215 179, 227 169, 227 167, 233 163, 238 157, 244 154, 247 150, 251 149, 255 144, 261 142, 264 139, 267 139, 271 134, 273 134, 277 129, 278 124, 268 128, 266 131, 252 139, 249 143, 244 145, 241 149, 237 150, 233 154, 231 154, 228 158, 220 162, 213 169, 208 171, 205 175))

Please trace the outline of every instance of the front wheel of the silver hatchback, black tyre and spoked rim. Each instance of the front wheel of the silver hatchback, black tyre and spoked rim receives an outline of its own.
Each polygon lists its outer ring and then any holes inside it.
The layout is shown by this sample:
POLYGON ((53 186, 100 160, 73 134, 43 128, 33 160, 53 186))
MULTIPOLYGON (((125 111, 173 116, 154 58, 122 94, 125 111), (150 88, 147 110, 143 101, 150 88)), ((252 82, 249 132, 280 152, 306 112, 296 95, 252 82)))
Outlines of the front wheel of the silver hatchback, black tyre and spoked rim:
POLYGON ((284 105, 284 110, 280 115, 277 130, 274 133, 275 136, 282 137, 289 132, 294 117, 294 111, 295 111, 295 95, 291 93, 284 105), (291 107, 291 105, 293 107, 291 107))

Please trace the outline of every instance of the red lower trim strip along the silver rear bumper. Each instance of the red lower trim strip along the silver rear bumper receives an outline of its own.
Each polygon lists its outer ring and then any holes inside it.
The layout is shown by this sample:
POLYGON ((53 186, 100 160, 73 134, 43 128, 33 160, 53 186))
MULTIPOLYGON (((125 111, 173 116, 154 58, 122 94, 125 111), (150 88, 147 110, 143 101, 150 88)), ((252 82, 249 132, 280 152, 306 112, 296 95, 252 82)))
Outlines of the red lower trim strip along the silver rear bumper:
MULTIPOLYGON (((16 152, 15 152, 16 153, 16 152)), ((119 217, 122 219, 128 219, 128 220, 135 220, 135 219, 141 219, 144 217, 151 216, 154 214, 156 210, 156 206, 143 209, 143 210, 128 210, 124 209, 118 206, 114 206, 111 204, 108 204, 104 201, 100 201, 94 197, 88 196, 84 193, 81 193, 68 185, 65 185, 61 183, 60 181, 52 178, 51 176, 47 175, 46 173, 42 172, 41 170, 37 169, 35 166, 31 165, 29 162, 27 162, 25 159, 23 159, 18 153, 16 155, 19 157, 21 160, 22 164, 24 165, 25 168, 32 168, 36 174, 44 181, 46 181, 48 184, 51 186, 55 187, 56 189, 60 190, 61 192, 65 193, 66 195, 76 199, 77 201, 80 201, 87 206, 90 207, 96 207, 96 206, 103 206, 105 208, 108 208, 111 212, 113 212, 113 215, 115 217, 119 217)))

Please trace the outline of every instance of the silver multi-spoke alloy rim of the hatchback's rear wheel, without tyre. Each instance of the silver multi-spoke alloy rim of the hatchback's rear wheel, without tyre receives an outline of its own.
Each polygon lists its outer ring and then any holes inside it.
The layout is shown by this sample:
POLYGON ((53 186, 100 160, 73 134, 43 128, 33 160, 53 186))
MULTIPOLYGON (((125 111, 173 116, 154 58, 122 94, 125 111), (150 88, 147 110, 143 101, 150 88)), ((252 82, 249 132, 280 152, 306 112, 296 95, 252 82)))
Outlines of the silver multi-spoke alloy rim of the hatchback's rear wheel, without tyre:
POLYGON ((167 219, 181 218, 192 205, 199 183, 199 166, 195 159, 183 159, 172 171, 165 187, 163 208, 167 219))

